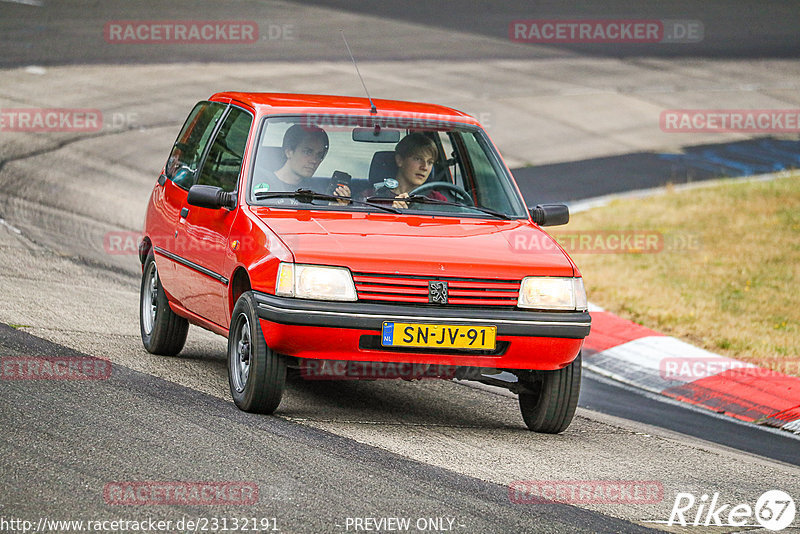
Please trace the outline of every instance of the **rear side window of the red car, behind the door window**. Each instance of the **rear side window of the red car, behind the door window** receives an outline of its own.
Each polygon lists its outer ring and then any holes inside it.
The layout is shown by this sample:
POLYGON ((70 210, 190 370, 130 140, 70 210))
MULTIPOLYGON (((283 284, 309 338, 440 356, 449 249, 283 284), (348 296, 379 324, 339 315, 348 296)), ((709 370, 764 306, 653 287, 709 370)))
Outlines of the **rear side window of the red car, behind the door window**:
POLYGON ((167 160, 167 178, 176 185, 189 189, 194 184, 200 158, 225 107, 217 102, 200 102, 189 114, 167 160))

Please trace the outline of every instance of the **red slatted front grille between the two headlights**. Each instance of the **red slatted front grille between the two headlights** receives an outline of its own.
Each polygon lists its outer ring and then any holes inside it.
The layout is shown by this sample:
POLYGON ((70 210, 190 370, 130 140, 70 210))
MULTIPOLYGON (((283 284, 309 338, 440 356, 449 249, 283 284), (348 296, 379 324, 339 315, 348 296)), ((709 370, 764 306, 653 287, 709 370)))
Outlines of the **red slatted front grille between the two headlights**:
MULTIPOLYGON (((448 302, 444 306, 517 305, 519 280, 353 273, 358 299, 366 302, 428 304, 428 282, 447 282, 448 302)), ((441 306, 431 304, 431 306, 441 306)))

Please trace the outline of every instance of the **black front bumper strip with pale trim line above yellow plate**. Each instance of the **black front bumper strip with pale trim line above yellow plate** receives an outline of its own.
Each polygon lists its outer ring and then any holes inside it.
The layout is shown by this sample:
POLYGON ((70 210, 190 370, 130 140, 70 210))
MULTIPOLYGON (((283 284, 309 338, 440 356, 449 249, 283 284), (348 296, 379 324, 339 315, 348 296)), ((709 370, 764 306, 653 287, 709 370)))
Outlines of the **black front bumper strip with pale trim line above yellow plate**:
POLYGON ((501 336, 583 339, 589 335, 592 321, 589 312, 330 302, 253 293, 260 318, 287 325, 380 331, 384 321, 475 324, 494 325, 501 336))

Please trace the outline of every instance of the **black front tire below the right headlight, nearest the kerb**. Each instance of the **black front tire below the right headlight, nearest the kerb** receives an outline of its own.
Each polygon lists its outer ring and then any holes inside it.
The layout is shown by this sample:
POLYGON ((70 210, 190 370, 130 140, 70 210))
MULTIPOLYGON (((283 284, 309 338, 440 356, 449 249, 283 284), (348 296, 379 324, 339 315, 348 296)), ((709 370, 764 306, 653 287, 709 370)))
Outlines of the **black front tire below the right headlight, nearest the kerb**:
POLYGON ((529 391, 519 394, 519 409, 530 430, 563 432, 575 416, 581 391, 581 355, 557 371, 534 371, 520 379, 529 391))

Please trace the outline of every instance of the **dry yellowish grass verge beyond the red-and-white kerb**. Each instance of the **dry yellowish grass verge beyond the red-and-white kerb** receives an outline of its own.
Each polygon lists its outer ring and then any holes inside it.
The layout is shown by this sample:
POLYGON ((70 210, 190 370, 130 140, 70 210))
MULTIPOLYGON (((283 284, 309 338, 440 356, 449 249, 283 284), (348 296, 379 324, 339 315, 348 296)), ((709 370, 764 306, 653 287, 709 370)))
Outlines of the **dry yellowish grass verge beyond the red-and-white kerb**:
POLYGON ((578 264, 591 302, 800 376, 800 174, 667 188, 574 214, 551 233, 578 264))

